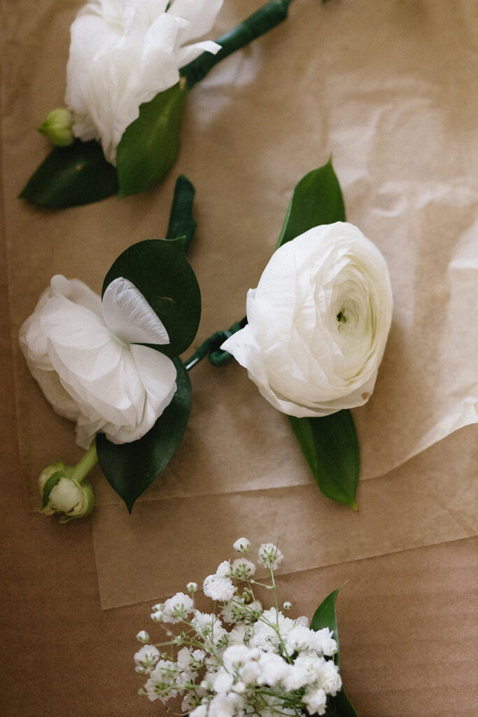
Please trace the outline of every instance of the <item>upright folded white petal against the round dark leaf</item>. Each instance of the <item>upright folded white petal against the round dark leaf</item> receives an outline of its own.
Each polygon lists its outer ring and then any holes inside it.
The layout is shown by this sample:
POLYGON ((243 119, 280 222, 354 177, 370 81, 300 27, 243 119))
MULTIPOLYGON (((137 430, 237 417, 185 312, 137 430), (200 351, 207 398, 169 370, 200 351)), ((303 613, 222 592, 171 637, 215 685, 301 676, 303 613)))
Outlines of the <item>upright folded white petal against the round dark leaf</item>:
POLYGON ((125 343, 169 343, 163 322, 128 279, 119 277, 107 286, 102 315, 110 331, 125 343))

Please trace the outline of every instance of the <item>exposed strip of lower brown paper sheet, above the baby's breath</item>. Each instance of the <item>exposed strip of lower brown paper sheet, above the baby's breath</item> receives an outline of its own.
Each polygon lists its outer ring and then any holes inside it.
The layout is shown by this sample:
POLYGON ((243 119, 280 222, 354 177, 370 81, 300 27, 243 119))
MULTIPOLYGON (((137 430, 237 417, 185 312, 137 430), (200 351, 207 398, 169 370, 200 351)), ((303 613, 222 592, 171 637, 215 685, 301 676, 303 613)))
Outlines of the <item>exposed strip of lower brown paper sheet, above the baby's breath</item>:
POLYGON ((142 500, 132 516, 123 505, 102 506, 93 522, 102 607, 154 601, 190 580, 201 584, 240 536, 252 537, 255 549, 279 541, 287 561, 278 573, 474 536, 476 486, 453 478, 472 475, 477 450, 470 457, 466 449, 473 431, 462 429, 364 481, 358 513, 325 501, 315 485, 142 500), (457 456, 453 473, 450 453, 457 456))

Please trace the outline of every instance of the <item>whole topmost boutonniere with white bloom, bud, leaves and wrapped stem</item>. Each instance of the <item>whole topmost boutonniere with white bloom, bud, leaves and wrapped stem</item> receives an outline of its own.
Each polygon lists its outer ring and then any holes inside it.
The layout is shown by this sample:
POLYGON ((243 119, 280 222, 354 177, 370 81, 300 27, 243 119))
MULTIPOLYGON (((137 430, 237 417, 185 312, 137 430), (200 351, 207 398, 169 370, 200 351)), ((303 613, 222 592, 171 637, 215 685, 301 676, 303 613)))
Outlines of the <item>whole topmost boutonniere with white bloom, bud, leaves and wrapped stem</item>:
POLYGON ((90 0, 71 28, 67 108, 39 128, 56 145, 20 196, 61 209, 148 189, 173 166, 188 92, 287 17, 270 0, 217 42, 223 0, 90 0))

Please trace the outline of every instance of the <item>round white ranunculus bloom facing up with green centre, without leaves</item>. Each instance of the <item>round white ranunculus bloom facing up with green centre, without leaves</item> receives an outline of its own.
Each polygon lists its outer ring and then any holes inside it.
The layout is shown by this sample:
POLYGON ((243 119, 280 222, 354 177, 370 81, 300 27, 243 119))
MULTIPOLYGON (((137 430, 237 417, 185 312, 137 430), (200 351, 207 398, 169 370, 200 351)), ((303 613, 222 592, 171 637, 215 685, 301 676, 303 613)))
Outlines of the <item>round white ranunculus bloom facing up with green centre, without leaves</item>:
POLYGON ((279 411, 327 416, 371 396, 392 307, 377 247, 353 224, 325 224, 272 255, 247 294, 249 323, 221 348, 279 411))

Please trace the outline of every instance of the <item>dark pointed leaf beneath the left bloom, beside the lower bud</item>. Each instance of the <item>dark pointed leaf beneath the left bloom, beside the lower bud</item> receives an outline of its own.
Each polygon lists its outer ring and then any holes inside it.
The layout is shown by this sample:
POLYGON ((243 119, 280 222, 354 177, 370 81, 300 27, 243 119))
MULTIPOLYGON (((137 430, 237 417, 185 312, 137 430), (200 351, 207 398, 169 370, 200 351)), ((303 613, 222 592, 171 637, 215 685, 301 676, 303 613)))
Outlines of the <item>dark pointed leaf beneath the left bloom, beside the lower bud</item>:
POLYGON ((178 389, 153 428, 132 443, 116 445, 97 433, 98 462, 113 490, 131 512, 135 500, 168 465, 181 442, 191 410, 191 382, 183 363, 174 361, 178 389))

